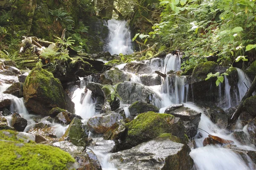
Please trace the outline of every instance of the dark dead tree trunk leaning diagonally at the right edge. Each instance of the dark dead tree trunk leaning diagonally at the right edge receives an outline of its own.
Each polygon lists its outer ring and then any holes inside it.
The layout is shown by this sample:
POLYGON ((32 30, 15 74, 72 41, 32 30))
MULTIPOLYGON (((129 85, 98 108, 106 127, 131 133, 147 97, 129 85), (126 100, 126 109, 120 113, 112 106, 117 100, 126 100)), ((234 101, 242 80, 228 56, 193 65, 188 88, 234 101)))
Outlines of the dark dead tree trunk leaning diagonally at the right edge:
POLYGON ((243 106, 244 106, 245 99, 247 99, 248 97, 250 97, 253 94, 253 92, 255 91, 255 88, 256 88, 256 76, 254 77, 254 80, 253 80, 250 88, 247 90, 247 92, 244 95, 243 99, 239 103, 238 108, 236 109, 235 113, 233 113, 233 115, 231 117, 231 122, 232 123, 236 122, 236 120, 239 118, 239 116, 240 116, 240 114, 242 112, 243 106))

